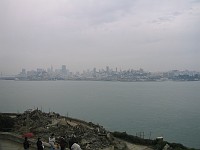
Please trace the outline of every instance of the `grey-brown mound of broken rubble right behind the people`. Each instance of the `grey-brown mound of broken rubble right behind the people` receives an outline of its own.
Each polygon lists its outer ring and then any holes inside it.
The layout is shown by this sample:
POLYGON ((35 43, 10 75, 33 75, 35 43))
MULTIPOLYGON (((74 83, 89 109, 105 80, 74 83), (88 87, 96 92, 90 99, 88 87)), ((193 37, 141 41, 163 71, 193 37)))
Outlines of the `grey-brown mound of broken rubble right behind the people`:
POLYGON ((31 132, 34 137, 41 137, 48 142, 54 133, 59 138, 65 136, 66 141, 75 138, 83 149, 103 149, 112 145, 112 138, 102 126, 81 120, 60 116, 57 113, 44 113, 38 109, 29 110, 15 118, 14 132, 22 134, 31 132))

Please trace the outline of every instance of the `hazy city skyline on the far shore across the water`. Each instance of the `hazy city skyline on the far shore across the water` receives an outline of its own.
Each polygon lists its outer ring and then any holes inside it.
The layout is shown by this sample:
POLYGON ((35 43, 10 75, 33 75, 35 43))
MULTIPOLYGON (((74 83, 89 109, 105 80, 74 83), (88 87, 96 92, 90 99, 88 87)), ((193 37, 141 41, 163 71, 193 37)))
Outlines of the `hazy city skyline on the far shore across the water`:
POLYGON ((53 69, 51 66, 46 70, 37 68, 36 70, 22 71, 15 76, 16 80, 91 80, 91 81, 200 81, 200 73, 196 71, 172 70, 167 72, 147 72, 143 69, 120 70, 106 66, 105 69, 86 70, 80 72, 70 72, 66 65, 60 69, 53 69))

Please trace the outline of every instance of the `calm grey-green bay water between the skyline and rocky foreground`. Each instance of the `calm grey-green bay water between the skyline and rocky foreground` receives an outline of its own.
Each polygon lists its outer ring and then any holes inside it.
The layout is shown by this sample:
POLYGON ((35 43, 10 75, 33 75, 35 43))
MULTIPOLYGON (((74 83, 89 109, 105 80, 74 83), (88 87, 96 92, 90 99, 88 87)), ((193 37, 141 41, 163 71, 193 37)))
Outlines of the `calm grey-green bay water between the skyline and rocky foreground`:
POLYGON ((200 148, 200 82, 0 80, 1 112, 37 107, 200 148))

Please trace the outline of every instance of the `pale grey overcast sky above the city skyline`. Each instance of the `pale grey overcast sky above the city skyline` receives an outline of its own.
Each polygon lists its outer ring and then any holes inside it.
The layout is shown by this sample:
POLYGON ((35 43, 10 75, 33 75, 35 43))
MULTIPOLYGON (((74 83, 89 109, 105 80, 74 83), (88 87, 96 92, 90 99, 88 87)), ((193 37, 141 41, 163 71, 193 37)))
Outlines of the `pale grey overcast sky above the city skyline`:
POLYGON ((200 0, 0 0, 0 72, 200 71, 200 0))

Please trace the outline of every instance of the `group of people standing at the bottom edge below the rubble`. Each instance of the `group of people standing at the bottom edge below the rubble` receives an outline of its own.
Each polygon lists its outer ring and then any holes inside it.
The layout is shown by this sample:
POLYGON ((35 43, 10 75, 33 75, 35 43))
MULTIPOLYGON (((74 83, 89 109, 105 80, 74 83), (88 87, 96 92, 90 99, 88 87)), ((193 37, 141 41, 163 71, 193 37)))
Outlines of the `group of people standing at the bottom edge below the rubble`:
MULTIPOLYGON (((70 139, 67 142, 65 140, 65 136, 62 136, 59 139, 59 142, 56 143, 54 134, 51 134, 51 136, 49 137, 49 144, 50 144, 50 150, 65 150, 66 147, 68 147, 68 146, 71 150, 81 150, 80 145, 77 144, 77 141, 74 138, 70 139)), ((43 145, 40 137, 38 138, 36 145, 37 145, 38 150, 44 150, 44 145, 43 145)), ((24 150, 29 150, 30 143, 29 143, 27 137, 25 137, 25 139, 24 139, 23 147, 24 147, 24 150)))

